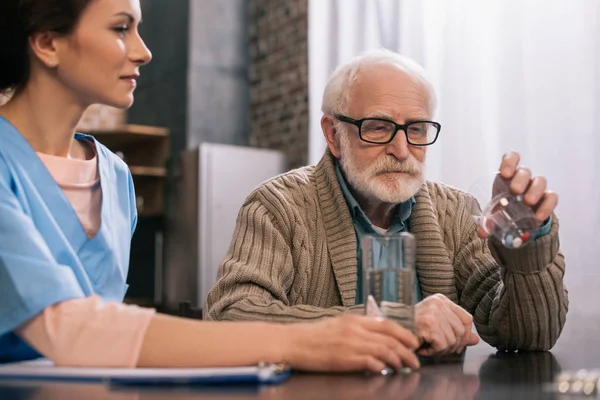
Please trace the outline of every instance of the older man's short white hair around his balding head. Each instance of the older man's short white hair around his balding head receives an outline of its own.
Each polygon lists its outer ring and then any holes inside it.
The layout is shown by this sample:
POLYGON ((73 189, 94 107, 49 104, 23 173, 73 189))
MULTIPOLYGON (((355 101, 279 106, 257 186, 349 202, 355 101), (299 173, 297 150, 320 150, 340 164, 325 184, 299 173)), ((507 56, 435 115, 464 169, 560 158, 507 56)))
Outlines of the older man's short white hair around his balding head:
POLYGON ((429 115, 433 118, 437 106, 436 94, 433 85, 425 76, 425 71, 410 58, 387 49, 361 53, 346 64, 340 65, 325 86, 321 105, 323 113, 344 114, 350 101, 350 89, 356 82, 358 73, 367 66, 382 64, 399 68, 423 87, 427 96, 429 115))

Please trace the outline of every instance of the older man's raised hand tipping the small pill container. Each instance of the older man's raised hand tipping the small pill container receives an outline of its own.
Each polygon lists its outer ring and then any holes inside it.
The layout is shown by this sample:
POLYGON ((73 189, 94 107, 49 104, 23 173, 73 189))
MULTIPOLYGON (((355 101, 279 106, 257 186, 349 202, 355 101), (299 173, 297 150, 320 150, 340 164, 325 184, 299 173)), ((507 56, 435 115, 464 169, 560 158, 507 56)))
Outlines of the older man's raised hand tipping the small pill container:
MULTIPOLYGON (((494 182, 493 193, 506 190, 506 186, 514 194, 522 194, 525 204, 531 206, 535 217, 544 222, 554 212, 558 205, 558 194, 547 189, 547 181, 543 176, 533 176, 531 170, 519 165, 521 156, 510 151, 502 157, 500 177, 494 182)), ((491 194, 490 194, 491 195, 491 194)), ((488 233, 481 227, 477 229, 481 238, 487 238, 488 233)))

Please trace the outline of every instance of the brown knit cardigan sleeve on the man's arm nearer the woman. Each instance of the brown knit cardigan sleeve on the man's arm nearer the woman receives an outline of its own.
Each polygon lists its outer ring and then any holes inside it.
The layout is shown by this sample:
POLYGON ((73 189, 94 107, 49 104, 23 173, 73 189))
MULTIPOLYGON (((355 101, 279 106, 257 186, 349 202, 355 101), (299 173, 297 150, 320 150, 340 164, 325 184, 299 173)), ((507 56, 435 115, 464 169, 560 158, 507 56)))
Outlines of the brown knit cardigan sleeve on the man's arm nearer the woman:
POLYGON ((208 294, 205 315, 212 320, 285 323, 363 313, 362 306, 290 304, 292 283, 303 277, 293 265, 290 226, 282 220, 256 196, 244 204, 217 283, 208 294))

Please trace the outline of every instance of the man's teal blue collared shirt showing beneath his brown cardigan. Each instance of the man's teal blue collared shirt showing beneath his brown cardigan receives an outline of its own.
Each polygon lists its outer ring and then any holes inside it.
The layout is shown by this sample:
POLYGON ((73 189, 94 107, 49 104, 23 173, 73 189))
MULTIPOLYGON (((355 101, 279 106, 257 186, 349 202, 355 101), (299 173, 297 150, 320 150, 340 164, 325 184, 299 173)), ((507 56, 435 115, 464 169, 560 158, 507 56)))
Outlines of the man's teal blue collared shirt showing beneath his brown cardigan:
MULTIPOLYGON (((378 231, 379 228, 373 225, 373 223, 369 220, 369 217, 365 214, 363 209, 358 204, 358 201, 354 198, 348 185, 346 184, 346 180, 342 175, 342 171, 340 169, 339 163, 335 161, 335 174, 340 184, 340 188, 342 189, 342 193, 344 194, 344 199, 346 200, 346 204, 348 204, 348 208, 350 209, 350 215, 352 216, 352 224, 354 225, 354 232, 356 233, 356 265, 357 265, 357 273, 358 279, 357 287, 356 287, 356 304, 362 304, 363 302, 363 285, 362 285, 362 250, 360 247, 361 239, 364 235, 369 234, 381 234, 378 231)), ((400 203, 395 210, 394 218, 392 220, 392 224, 389 229, 386 231, 386 234, 395 234, 400 232, 408 232, 408 217, 410 217, 410 213, 412 212, 412 207, 415 204, 415 198, 411 197, 409 200, 404 203, 400 203)), ((418 277, 415 276, 415 298, 417 301, 421 301, 421 288, 419 286, 418 277)))

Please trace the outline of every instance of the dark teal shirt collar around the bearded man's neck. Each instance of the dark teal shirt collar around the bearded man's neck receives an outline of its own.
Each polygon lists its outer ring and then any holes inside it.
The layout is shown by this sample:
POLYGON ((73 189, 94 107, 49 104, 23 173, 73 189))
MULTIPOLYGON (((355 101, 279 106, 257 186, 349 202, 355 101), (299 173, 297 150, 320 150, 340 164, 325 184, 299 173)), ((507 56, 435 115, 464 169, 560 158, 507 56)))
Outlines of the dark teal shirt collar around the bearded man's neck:
MULTIPOLYGON (((358 204, 358 201, 354 198, 350 189, 348 188, 348 184, 344 179, 344 175, 342 174, 342 170, 340 168, 340 163, 337 159, 334 161, 335 164, 335 176, 337 181, 342 189, 342 193, 344 194, 344 199, 350 208, 350 214, 352 215, 352 222, 356 225, 360 225, 364 230, 370 233, 377 233, 374 225, 369 220, 369 217, 365 214, 365 212, 358 204)), ((416 200, 413 197, 408 199, 407 201, 400 203, 396 207, 396 214, 394 215, 394 219, 392 220, 392 225, 388 229, 388 233, 399 233, 402 232, 406 226, 406 221, 410 217, 412 212, 412 207, 416 203, 416 200)))

